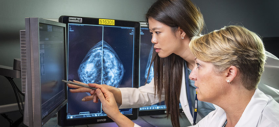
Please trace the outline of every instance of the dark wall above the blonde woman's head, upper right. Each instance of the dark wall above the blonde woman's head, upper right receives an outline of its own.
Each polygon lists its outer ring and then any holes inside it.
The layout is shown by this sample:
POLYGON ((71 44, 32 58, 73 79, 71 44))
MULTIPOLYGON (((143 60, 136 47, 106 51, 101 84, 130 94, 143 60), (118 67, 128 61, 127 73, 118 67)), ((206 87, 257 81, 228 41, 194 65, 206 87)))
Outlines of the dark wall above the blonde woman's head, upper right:
POLYGON ((244 25, 262 37, 279 37, 279 1, 192 0, 201 10, 205 33, 226 25, 244 25))

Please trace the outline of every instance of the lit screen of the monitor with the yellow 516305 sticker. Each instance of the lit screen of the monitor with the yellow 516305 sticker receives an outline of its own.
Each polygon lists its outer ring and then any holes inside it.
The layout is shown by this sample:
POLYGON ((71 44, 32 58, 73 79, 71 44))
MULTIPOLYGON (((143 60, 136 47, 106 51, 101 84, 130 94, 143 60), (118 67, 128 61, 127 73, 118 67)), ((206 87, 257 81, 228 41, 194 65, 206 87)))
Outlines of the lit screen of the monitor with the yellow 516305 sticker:
MULTIPOLYGON (((133 54, 133 27, 68 23, 68 80, 132 87, 133 54)), ((106 116, 100 101, 82 102, 85 96, 68 92, 67 119, 106 116)))

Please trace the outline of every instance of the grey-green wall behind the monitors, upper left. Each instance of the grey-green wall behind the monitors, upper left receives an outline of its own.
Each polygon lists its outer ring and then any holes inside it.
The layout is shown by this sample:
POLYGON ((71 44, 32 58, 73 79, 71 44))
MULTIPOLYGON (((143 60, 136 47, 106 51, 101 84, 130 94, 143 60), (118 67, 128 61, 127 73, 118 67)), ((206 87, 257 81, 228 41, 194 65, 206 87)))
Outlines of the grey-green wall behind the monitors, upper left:
MULTIPOLYGON (((61 15, 73 15, 145 21, 145 13, 154 2, 155 0, 1 1, 0 65, 12 67, 13 58, 20 58, 19 30, 25 29, 25 17, 58 20, 61 15)), ((21 89, 20 79, 14 80, 21 89)), ((16 103, 12 86, 4 76, 0 76, 0 86, 0 106, 16 103)), ((13 118, 16 113, 8 115, 13 118)), ((13 120, 15 121, 19 116, 14 117, 13 120)), ((9 125, 2 116, 0 116, 0 123, 1 126, 9 125)))

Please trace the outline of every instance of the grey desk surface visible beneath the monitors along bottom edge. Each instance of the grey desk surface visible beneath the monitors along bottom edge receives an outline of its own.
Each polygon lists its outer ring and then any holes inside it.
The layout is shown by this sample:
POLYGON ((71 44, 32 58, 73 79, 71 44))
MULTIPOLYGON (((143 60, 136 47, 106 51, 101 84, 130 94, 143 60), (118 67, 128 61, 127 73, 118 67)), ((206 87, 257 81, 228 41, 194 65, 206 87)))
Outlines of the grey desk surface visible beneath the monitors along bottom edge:
MULTIPOLYGON (((191 123, 187 119, 184 113, 180 114, 181 117, 179 118, 180 126, 189 126, 191 123)), ((155 115, 155 116, 164 116, 164 115, 155 115)), ((160 126, 160 127, 167 127, 172 126, 172 122, 170 119, 164 118, 153 118, 151 116, 139 116, 136 120, 132 120, 136 124, 140 126, 146 126, 146 127, 153 127, 153 126, 160 126)), ((47 123, 43 125, 43 127, 55 127, 59 126, 57 125, 57 117, 51 118, 47 123)), ((109 122, 109 123, 99 123, 99 124, 89 124, 89 127, 104 127, 104 126, 118 126, 115 122, 109 122)), ((87 125, 77 125, 75 127, 87 127, 87 125)))

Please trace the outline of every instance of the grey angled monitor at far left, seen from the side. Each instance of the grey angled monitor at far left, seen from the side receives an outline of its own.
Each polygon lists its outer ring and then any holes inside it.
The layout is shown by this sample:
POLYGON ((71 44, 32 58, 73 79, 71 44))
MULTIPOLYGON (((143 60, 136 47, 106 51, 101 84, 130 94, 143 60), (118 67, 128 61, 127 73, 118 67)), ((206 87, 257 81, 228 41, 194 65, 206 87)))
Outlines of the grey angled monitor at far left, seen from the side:
POLYGON ((26 18, 20 31, 24 124, 42 126, 67 102, 65 24, 26 18))

